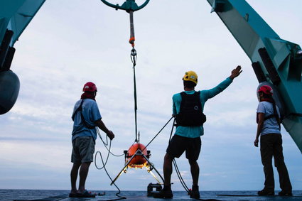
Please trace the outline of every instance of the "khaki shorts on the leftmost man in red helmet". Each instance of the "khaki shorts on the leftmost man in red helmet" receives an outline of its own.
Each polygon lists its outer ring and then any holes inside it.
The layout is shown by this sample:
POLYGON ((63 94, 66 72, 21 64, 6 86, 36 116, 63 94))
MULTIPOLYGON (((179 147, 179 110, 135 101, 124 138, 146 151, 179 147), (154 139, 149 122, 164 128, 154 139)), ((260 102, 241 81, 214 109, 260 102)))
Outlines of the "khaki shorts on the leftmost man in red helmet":
POLYGON ((72 141, 72 163, 91 163, 95 153, 95 139, 91 136, 82 136, 72 141))

